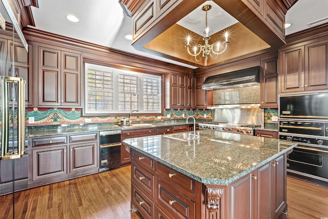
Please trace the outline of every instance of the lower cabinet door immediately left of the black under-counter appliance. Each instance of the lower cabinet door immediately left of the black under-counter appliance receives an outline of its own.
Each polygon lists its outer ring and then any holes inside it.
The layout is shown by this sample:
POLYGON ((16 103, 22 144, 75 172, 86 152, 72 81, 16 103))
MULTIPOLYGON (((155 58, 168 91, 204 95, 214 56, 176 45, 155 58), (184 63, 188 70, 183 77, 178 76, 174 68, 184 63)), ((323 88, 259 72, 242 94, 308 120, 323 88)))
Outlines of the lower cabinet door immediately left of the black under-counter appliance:
POLYGON ((97 143, 70 145, 70 172, 97 168, 97 143))

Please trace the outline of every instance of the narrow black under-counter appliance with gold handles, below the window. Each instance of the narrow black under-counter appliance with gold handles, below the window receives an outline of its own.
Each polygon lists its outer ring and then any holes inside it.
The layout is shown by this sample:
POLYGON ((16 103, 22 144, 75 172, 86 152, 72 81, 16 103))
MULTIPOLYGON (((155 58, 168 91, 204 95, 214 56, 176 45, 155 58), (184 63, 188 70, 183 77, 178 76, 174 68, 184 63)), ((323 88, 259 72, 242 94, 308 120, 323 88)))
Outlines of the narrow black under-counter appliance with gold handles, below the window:
POLYGON ((121 163, 121 130, 101 131, 99 172, 117 168, 121 163))

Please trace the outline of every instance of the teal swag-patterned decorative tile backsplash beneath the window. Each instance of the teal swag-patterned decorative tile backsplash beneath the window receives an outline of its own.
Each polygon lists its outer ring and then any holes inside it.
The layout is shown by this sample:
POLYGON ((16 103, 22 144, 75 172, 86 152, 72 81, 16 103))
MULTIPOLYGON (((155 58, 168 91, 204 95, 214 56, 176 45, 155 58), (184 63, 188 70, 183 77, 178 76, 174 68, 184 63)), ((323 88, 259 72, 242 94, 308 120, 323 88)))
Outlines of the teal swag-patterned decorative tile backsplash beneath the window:
MULTIPOLYGON (((27 126, 40 125, 62 125, 62 124, 83 124, 83 123, 110 123, 118 122, 126 116, 101 116, 101 117, 81 117, 81 109, 60 109, 60 108, 28 108, 27 109, 27 126), (29 124, 28 117, 34 117, 34 123, 29 124), (86 122, 86 118, 90 122, 86 122)), ((176 120, 193 115, 195 118, 206 118, 212 120, 212 111, 209 109, 165 109, 161 120, 176 120), (167 116, 170 116, 168 118, 167 116)), ((132 121, 154 121, 158 116, 132 116, 132 121)))

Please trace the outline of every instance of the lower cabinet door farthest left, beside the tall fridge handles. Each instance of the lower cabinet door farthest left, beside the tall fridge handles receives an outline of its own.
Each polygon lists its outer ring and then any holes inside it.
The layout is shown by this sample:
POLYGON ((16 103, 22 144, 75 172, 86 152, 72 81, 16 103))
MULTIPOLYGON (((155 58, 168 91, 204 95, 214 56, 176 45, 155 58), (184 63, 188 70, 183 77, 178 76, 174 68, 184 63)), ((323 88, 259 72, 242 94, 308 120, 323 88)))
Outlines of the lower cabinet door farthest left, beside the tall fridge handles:
POLYGON ((67 146, 32 149, 32 180, 45 178, 56 181, 56 177, 67 174, 67 146))

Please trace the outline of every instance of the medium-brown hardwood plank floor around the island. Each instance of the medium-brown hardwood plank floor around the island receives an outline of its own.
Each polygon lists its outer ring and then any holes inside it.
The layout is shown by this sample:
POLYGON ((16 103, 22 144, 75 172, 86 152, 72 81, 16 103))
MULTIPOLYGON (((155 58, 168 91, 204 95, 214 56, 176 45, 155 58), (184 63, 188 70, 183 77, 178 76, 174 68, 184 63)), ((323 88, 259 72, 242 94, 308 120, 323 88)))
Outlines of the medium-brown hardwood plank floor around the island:
MULTIPOLYGON (((15 218, 139 219, 130 212, 131 167, 15 193, 15 218)), ((328 188, 288 177, 288 212, 279 219, 328 218, 328 188)), ((12 194, 0 196, 0 218, 12 218, 12 194)))

